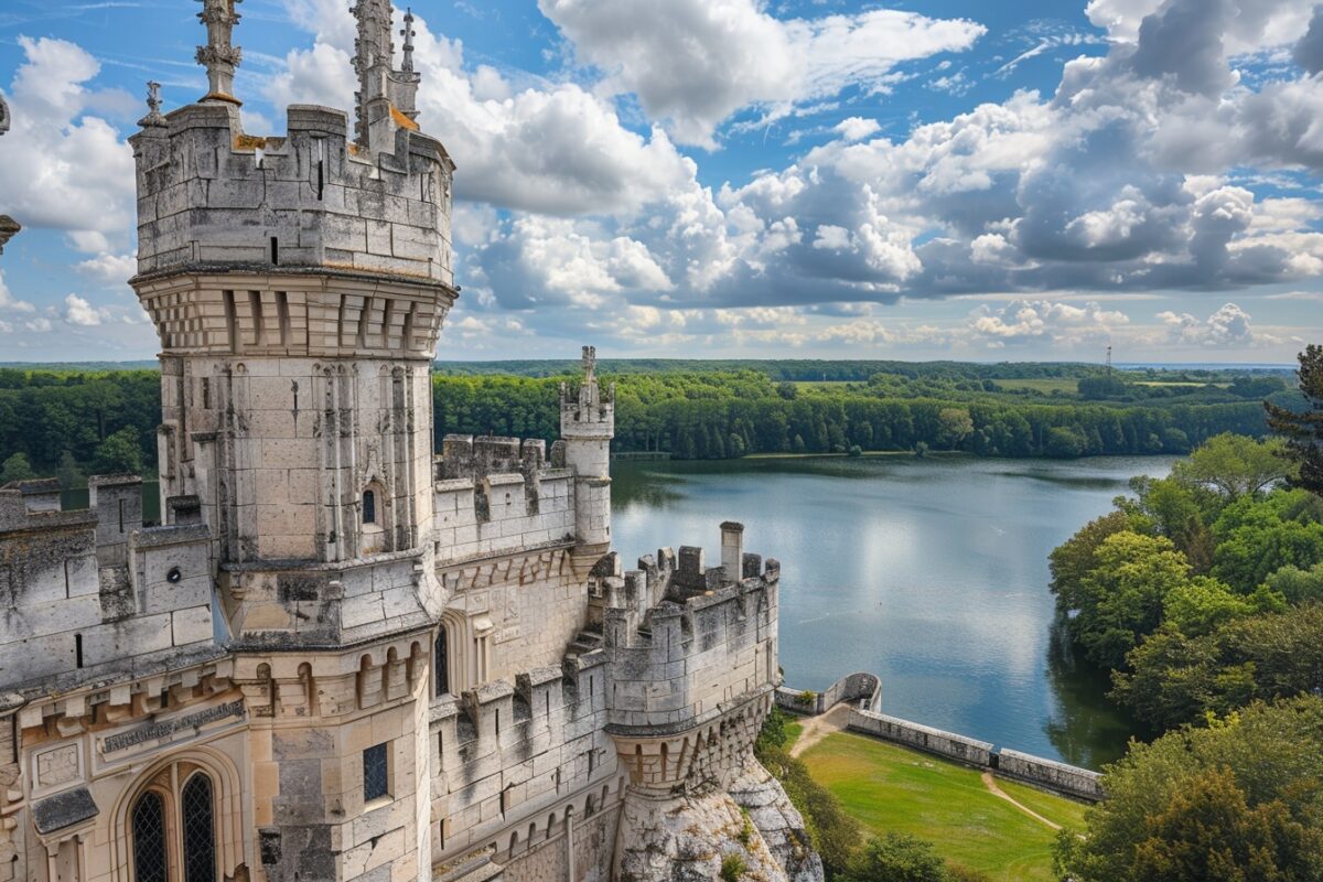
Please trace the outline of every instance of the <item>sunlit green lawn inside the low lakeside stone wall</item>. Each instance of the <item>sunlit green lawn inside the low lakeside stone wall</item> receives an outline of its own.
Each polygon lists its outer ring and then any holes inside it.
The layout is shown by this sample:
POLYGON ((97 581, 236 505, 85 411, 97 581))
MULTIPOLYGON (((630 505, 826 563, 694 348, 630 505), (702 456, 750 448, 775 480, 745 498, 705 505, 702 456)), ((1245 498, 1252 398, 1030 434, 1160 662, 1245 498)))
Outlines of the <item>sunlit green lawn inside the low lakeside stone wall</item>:
MULTIPOLYGON (((875 833, 931 841, 953 863, 999 882, 1052 882, 1056 832, 988 792, 974 768, 885 742, 836 733, 800 755, 812 776, 875 833)), ((1084 805, 998 779, 1046 819, 1078 828, 1084 805)))

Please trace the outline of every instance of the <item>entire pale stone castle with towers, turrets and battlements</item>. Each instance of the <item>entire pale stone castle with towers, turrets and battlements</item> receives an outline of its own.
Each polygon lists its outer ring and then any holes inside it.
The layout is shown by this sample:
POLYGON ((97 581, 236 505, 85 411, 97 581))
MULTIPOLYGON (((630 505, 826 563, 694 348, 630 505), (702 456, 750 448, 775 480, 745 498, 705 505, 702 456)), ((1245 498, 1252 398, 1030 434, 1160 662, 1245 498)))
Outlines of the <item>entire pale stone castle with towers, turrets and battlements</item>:
POLYGON ((561 439, 447 436, 455 164, 419 131, 411 17, 357 0, 353 126, 242 131, 238 0, 209 91, 131 138, 160 336, 142 479, 0 489, 0 881, 822 879, 753 758, 779 567, 611 551, 614 395, 561 439), (726 873, 722 873, 722 866, 726 873))

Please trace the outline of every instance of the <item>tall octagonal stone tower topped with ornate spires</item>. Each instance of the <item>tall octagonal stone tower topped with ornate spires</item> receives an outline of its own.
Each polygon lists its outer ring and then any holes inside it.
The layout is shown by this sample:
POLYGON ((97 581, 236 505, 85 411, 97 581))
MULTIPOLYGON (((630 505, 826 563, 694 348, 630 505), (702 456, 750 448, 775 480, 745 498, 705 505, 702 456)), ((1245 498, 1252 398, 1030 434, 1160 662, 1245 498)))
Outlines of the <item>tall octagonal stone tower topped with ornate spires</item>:
POLYGON ((234 0, 204 0, 209 94, 131 139, 161 510, 210 536, 250 709, 250 870, 273 882, 430 878, 429 368, 456 298, 455 167, 393 103, 417 74, 390 70, 389 1, 355 13, 356 139, 314 106, 284 135, 242 130, 234 0))

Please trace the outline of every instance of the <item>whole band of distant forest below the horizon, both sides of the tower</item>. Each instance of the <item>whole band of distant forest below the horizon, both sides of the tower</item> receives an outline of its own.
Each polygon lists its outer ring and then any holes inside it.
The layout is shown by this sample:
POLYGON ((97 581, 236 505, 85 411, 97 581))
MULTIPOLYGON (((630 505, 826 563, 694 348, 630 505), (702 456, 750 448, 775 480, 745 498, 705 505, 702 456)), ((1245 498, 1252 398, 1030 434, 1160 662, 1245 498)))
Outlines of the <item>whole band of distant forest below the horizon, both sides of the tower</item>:
MULTIPOLYGON (((557 389, 573 382, 577 362, 491 365, 437 365, 438 450, 450 432, 556 439, 557 389)), ((1262 399, 1298 398, 1285 372, 679 360, 599 368, 617 386, 613 451, 676 459, 1184 454, 1221 432, 1262 435, 1262 399)), ((75 485, 89 473, 149 472, 159 414, 153 370, 0 368, 0 477, 58 475, 75 485)))

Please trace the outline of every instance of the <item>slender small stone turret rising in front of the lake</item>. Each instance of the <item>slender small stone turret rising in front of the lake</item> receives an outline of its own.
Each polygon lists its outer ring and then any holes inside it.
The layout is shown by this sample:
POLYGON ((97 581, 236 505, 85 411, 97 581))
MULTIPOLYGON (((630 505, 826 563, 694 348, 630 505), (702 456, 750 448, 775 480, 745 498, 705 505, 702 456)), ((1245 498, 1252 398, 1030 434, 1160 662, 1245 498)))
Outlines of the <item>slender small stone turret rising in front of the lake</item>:
POLYGON ((583 346, 583 382, 561 383, 561 439, 565 464, 574 469, 574 526, 585 555, 611 543, 611 438, 615 436, 615 386, 597 385, 597 349, 583 346))

